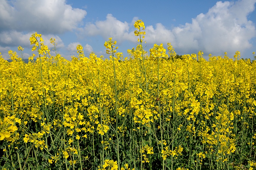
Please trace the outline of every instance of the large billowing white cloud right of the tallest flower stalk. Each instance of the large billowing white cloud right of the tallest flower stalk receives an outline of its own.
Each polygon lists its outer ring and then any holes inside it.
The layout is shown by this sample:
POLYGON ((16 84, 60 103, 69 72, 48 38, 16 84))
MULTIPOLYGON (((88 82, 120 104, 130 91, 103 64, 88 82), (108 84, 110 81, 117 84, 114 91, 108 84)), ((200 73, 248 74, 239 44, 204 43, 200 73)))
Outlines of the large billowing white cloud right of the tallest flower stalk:
POLYGON ((162 24, 146 27, 149 43, 171 42, 180 53, 202 50, 205 53, 235 53, 249 49, 256 36, 255 24, 247 19, 256 0, 218 1, 206 14, 199 14, 191 23, 166 29, 162 24))

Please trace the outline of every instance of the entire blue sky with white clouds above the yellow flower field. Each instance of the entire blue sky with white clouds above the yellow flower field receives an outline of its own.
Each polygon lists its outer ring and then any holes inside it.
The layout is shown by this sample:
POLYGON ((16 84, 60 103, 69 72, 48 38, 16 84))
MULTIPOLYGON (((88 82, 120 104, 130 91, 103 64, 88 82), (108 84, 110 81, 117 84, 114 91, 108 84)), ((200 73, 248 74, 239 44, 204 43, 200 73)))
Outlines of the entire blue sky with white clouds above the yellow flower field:
MULTIPOLYGON (((8 59, 8 51, 20 45, 23 57, 32 55, 29 38, 42 34, 50 49, 50 38, 57 50, 70 59, 76 46, 84 47, 86 56, 105 53, 104 42, 113 37, 118 52, 128 56, 127 49, 136 47, 134 21, 145 23, 145 40, 149 50, 154 44, 171 42, 179 55, 198 53, 233 58, 253 58, 256 52, 256 0, 0 0, 0 52, 8 59)), ((18 52, 19 53, 19 52, 18 52)))

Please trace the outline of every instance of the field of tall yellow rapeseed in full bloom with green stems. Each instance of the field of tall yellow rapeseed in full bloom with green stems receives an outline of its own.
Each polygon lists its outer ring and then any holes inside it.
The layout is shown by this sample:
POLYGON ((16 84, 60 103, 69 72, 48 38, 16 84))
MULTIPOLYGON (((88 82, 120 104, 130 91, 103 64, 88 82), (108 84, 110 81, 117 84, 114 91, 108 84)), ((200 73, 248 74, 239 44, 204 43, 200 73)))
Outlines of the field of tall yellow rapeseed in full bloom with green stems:
POLYGON ((1 170, 256 169, 256 62, 147 52, 134 27, 126 58, 110 38, 69 61, 37 33, 28 63, 0 57, 1 170))

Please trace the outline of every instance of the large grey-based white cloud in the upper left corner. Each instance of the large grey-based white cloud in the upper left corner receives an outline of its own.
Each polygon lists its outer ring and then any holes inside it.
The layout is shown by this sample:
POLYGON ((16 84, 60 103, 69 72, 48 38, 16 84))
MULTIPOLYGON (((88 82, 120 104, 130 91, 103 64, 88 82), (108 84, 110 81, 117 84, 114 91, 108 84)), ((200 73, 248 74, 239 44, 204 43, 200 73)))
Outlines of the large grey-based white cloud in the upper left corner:
POLYGON ((65 0, 0 0, 1 52, 6 56, 5 47, 31 48, 29 39, 34 32, 42 34, 50 50, 49 39, 55 38, 58 50, 64 43, 56 34, 76 29, 85 16, 85 10, 73 8, 65 0))

